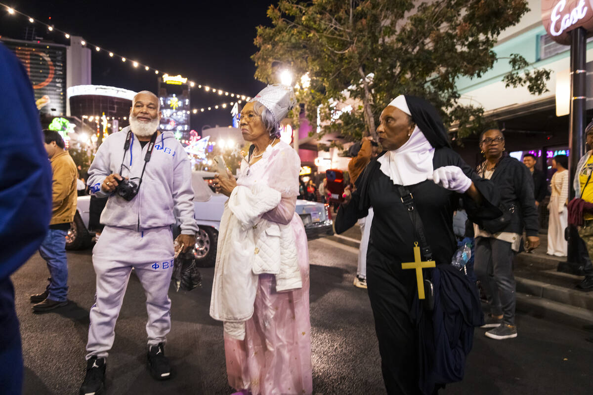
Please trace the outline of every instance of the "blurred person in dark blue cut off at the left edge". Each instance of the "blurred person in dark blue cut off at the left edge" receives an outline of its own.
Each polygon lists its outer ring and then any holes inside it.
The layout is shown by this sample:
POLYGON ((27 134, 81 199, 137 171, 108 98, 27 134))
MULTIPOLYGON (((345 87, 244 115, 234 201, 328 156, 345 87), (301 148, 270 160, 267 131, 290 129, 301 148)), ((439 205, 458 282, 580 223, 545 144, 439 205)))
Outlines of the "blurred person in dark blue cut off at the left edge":
POLYGON ((27 72, 0 43, 0 388, 18 395, 23 355, 10 275, 39 248, 52 217, 52 168, 27 72))

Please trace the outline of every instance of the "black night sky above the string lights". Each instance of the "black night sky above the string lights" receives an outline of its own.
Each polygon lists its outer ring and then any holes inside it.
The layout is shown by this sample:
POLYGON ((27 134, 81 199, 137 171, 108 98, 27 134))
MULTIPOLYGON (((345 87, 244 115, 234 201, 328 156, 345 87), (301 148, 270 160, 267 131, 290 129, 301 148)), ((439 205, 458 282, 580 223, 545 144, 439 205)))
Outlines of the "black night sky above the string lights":
MULTIPOLYGON (((269 25, 266 10, 274 0, 250 1, 162 1, 128 0, 0 0, 3 4, 55 25, 72 36, 111 50, 130 60, 173 75, 181 74, 197 84, 254 96, 265 85, 254 78, 250 59, 257 25, 269 25), (51 20, 49 20, 51 17, 51 20)), ((31 27, 22 15, 9 15, 0 8, 0 35, 23 40, 31 27)), ((69 44, 63 34, 37 25, 36 36, 69 44)), ((157 92, 157 75, 131 62, 110 58, 107 52, 92 53, 92 83, 157 92)), ((192 108, 234 101, 193 89, 192 108)), ((205 125, 228 126, 229 107, 192 114, 192 129, 205 125)))

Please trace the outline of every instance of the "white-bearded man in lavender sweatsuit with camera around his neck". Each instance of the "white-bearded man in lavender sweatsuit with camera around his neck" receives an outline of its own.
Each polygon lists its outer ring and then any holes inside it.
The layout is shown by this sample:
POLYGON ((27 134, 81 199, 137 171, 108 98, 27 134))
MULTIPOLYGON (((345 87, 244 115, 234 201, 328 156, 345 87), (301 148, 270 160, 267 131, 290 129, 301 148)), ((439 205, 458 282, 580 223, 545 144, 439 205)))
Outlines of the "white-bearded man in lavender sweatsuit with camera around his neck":
POLYGON ((166 380, 171 368, 164 355, 171 329, 168 288, 174 262, 172 226, 181 223, 178 251, 195 245, 192 168, 183 146, 170 131, 158 131, 158 98, 136 94, 130 126, 101 144, 89 169, 88 186, 96 197, 109 197, 101 238, 93 249, 97 275, 90 311, 87 374, 80 394, 104 392, 106 358, 132 269, 146 293, 148 365, 152 377, 166 380))

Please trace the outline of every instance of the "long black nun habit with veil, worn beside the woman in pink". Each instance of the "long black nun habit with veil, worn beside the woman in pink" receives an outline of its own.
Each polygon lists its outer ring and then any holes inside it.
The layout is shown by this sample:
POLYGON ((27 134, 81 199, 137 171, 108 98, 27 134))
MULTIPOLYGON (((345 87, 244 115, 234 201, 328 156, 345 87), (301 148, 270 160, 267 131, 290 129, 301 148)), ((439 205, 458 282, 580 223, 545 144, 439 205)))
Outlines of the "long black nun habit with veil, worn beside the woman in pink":
POLYGON ((431 395, 442 384, 463 378, 473 328, 483 322, 475 284, 451 266, 457 249, 453 212, 462 198, 468 217, 477 223, 501 213, 498 192, 451 149, 436 109, 421 98, 406 95, 405 99, 413 121, 435 149, 433 169, 458 166, 482 195, 477 204, 467 194, 446 190, 428 179, 406 186, 436 262, 435 269, 423 269, 424 278, 434 285, 434 309, 425 310, 419 303, 415 271, 401 268, 402 262, 415 260, 413 246, 418 237, 398 186, 381 171, 378 158, 356 180, 352 200, 340 207, 335 227, 337 233, 345 232, 373 207, 366 281, 385 387, 388 394, 431 395))

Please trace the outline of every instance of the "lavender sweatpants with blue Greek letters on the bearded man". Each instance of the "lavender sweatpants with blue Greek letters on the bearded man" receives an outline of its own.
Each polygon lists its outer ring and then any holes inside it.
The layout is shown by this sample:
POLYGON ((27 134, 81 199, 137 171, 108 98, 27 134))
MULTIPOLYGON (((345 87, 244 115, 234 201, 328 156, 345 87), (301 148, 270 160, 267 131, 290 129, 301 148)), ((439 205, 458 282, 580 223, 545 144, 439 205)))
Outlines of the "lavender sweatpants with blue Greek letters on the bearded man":
POLYGON ((112 226, 103 229, 93 248, 97 291, 90 312, 87 360, 94 355, 107 357, 113 345, 114 328, 132 268, 146 294, 148 345, 165 341, 171 329, 168 289, 173 249, 173 233, 168 226, 144 232, 112 226))

